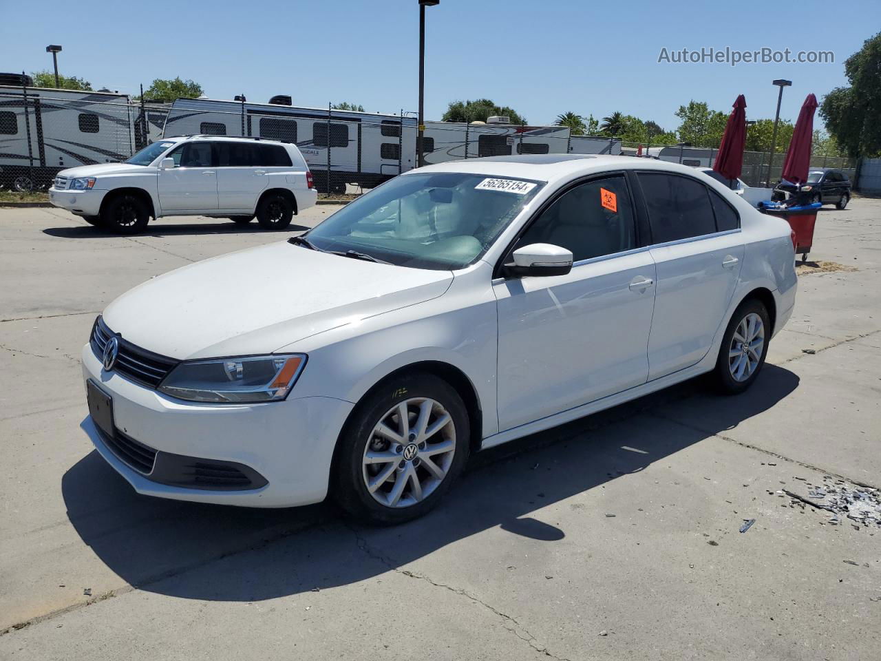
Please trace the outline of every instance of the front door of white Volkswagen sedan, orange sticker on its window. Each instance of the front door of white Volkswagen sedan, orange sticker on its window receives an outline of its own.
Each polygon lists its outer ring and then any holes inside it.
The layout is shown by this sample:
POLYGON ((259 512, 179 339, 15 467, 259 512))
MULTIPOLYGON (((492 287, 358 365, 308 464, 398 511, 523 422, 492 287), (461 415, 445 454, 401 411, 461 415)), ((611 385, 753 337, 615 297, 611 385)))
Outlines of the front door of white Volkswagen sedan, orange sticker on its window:
POLYGON ((624 176, 568 189, 515 248, 531 243, 572 250, 574 265, 564 276, 493 281, 500 431, 648 378, 655 264, 637 249, 624 176))

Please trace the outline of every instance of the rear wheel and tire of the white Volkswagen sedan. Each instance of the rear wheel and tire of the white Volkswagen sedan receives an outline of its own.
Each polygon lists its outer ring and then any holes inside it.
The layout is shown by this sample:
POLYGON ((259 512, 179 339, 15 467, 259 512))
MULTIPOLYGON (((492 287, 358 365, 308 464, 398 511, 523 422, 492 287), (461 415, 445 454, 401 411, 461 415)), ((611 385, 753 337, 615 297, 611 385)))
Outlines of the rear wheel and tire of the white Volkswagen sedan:
POLYGON ((771 321, 758 299, 741 303, 722 336, 715 381, 723 393, 737 395, 748 389, 765 365, 771 321))

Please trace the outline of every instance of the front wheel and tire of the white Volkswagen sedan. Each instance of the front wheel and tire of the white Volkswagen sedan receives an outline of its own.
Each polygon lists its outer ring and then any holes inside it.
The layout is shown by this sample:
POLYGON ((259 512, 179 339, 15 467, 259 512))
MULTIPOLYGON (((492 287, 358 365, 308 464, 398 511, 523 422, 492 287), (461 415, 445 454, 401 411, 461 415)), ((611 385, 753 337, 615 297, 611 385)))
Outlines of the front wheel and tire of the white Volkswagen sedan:
POLYGON ((421 372, 381 383, 340 434, 334 495, 374 524, 402 524, 433 509, 462 472, 468 410, 441 378, 421 372))

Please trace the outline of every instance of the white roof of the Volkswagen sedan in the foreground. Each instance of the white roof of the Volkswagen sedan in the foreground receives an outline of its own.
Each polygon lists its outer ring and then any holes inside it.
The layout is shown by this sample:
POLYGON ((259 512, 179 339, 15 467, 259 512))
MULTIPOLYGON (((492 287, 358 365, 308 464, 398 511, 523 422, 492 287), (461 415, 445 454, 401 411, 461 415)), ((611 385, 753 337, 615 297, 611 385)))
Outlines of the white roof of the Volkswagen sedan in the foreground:
POLYGON ((451 160, 446 163, 418 167, 402 176, 457 172, 473 175, 514 177, 539 182, 556 182, 574 176, 592 175, 613 170, 652 170, 694 176, 693 167, 666 160, 643 159, 634 156, 600 154, 523 154, 488 156, 480 159, 451 160))

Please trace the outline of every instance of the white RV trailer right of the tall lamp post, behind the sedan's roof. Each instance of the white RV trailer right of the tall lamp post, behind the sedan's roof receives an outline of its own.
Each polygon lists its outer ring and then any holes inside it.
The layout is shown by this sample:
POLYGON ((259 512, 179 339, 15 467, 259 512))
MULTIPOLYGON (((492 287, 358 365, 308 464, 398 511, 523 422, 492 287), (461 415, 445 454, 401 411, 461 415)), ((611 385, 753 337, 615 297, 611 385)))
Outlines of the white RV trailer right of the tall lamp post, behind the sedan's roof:
MULTIPOLYGON (((491 121, 493 119, 496 118, 490 118, 491 121)), ((426 122, 424 158, 426 165, 433 165, 483 156, 566 153, 568 138, 569 129, 566 126, 426 122)))

